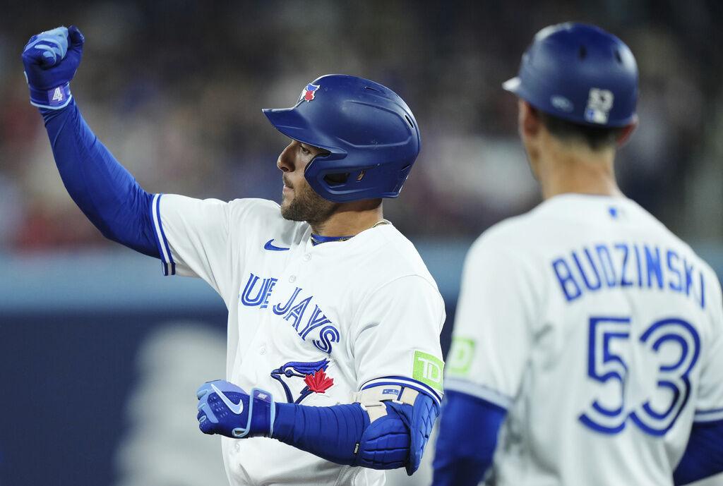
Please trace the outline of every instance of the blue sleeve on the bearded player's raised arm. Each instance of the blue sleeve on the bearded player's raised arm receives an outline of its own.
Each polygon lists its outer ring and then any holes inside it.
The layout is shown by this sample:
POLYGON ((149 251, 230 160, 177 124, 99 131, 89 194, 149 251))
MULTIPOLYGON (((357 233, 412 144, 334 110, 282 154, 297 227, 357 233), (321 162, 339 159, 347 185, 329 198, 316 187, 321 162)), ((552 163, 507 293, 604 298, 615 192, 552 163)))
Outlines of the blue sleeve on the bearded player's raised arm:
POLYGON ((40 109, 63 183, 75 204, 103 236, 160 258, 151 202, 80 115, 72 99, 61 110, 40 109))

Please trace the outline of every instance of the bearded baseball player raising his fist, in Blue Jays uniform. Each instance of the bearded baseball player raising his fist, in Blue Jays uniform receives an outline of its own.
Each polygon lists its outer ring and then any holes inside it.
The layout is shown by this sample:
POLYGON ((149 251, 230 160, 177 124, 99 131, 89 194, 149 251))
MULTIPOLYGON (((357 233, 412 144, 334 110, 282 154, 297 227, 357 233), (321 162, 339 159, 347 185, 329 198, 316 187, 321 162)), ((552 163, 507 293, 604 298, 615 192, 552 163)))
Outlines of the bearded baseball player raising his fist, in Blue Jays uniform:
POLYGON ((382 485, 422 458, 442 394, 444 304, 414 246, 382 217, 419 153, 406 103, 368 79, 307 84, 264 110, 291 139, 262 199, 148 194, 83 121, 69 89, 76 27, 25 46, 69 194, 103 235, 208 282, 228 307, 228 381, 197 392, 232 485, 382 485), (283 184, 282 184, 283 182, 283 184))

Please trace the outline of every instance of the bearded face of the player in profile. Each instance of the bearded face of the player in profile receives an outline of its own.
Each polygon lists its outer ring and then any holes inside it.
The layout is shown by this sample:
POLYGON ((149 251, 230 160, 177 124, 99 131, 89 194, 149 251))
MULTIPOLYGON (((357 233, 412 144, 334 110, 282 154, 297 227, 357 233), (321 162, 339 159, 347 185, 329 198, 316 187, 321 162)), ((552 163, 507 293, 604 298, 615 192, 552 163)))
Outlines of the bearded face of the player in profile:
POLYGON ((281 216, 309 224, 324 222, 335 212, 337 203, 316 194, 304 178, 304 169, 322 149, 292 140, 279 155, 276 165, 283 173, 281 216))

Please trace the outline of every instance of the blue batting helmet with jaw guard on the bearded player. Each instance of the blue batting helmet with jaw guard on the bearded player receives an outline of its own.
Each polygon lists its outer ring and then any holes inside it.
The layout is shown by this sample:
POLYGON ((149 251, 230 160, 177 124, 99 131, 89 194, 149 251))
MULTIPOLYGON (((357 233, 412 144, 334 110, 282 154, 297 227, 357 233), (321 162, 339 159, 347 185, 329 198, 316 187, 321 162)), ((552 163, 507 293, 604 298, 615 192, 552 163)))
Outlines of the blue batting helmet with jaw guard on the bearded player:
POLYGON ((397 197, 419 154, 411 110, 369 79, 328 74, 307 84, 293 108, 263 112, 282 134, 329 152, 304 171, 329 201, 397 197))

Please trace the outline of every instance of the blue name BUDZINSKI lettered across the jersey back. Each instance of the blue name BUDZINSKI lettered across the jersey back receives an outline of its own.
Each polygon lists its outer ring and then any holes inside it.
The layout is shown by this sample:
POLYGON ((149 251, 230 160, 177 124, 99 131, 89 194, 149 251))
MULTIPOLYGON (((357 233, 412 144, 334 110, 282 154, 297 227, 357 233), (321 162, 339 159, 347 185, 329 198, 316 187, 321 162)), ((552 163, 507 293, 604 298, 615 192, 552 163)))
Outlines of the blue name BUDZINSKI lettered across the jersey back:
POLYGON ((585 246, 552 261, 568 302, 602 288, 637 287, 685 294, 706 307, 703 272, 675 250, 631 243, 585 246))

